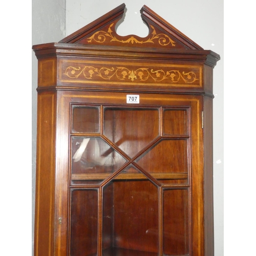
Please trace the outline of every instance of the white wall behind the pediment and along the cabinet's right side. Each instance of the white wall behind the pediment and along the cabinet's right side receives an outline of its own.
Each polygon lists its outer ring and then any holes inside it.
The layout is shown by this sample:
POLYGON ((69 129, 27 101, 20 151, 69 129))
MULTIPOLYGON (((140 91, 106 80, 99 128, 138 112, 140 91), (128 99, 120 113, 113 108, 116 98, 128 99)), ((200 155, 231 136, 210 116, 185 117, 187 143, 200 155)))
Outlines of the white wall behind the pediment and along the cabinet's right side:
POLYGON ((125 3, 125 18, 117 28, 119 35, 145 37, 147 26, 140 9, 146 5, 205 50, 221 56, 214 69, 214 214, 215 255, 223 255, 223 0, 66 0, 67 35, 125 3))

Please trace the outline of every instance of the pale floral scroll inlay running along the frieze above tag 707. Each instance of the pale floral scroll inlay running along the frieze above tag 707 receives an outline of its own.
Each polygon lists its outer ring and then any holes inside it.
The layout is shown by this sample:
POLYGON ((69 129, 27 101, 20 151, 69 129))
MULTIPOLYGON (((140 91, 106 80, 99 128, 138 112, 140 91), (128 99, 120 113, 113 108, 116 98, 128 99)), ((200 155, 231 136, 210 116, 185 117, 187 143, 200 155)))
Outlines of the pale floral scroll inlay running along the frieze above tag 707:
MULTIPOLYGON (((84 77, 86 79, 93 79, 98 76, 104 80, 111 80, 112 78, 117 78, 122 81, 132 81, 132 82, 143 82, 148 79, 153 79, 155 82, 161 82, 168 79, 171 83, 193 83, 197 80, 197 75, 192 71, 179 71, 179 70, 166 70, 163 69, 150 69, 150 68, 138 68, 138 69, 128 69, 125 67, 111 67, 111 68, 95 68, 92 66, 73 67, 69 66, 65 75, 69 78, 79 78, 84 77)), ((83 78, 83 79, 84 79, 83 78)))

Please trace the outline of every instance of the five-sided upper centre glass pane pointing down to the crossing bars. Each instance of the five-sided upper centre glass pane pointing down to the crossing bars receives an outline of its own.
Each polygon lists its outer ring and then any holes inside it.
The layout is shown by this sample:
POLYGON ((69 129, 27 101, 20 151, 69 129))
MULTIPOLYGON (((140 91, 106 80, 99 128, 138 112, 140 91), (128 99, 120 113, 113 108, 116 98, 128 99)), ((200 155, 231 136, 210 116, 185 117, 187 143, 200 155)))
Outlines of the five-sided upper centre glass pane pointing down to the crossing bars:
POLYGON ((159 135, 159 110, 105 108, 103 134, 133 157, 159 135))

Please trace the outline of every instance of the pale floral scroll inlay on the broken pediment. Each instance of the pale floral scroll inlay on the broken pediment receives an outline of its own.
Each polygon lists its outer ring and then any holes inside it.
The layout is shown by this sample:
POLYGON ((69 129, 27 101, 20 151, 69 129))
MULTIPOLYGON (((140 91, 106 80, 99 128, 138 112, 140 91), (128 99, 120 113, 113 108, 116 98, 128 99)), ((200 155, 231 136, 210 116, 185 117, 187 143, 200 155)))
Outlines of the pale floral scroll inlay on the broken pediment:
POLYGON ((108 29, 108 32, 105 31, 97 31, 96 33, 94 33, 92 36, 90 36, 88 39, 88 42, 92 42, 93 40, 98 42, 98 43, 103 43, 106 41, 107 38, 110 39, 111 42, 116 41, 116 42, 122 42, 123 44, 128 44, 128 43, 136 43, 136 44, 145 44, 145 43, 152 43, 154 44, 154 40, 158 39, 158 42, 161 46, 167 46, 169 44, 171 44, 172 46, 175 46, 175 41, 172 40, 169 36, 167 36, 166 34, 160 33, 157 34, 155 28, 151 26, 151 28, 153 29, 153 32, 151 33, 152 36, 150 38, 148 38, 145 41, 140 41, 138 39, 136 39, 134 36, 131 36, 130 38, 128 38, 127 40, 119 40, 118 38, 116 38, 115 36, 112 35, 112 30, 111 27, 114 25, 114 23, 112 23, 108 29))

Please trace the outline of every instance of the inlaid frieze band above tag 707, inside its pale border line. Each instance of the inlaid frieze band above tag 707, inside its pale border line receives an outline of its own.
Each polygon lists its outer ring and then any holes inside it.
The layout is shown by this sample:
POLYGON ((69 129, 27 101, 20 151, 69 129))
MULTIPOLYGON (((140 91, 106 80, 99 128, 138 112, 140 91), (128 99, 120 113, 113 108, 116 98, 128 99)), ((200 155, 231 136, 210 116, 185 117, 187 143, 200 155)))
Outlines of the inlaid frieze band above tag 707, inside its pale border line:
POLYGON ((72 80, 109 80, 124 82, 160 82, 200 85, 199 68, 181 67, 118 67, 118 66, 68 66, 63 78, 72 80))

